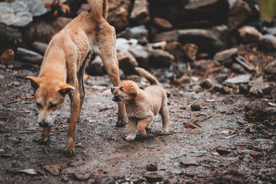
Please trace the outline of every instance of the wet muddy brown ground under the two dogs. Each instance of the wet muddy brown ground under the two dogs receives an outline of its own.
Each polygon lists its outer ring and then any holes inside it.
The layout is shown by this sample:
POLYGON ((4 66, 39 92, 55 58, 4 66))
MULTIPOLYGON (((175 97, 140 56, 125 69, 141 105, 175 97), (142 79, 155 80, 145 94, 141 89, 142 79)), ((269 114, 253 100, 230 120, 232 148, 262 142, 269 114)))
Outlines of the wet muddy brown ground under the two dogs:
POLYGON ((128 142, 124 140, 128 125, 115 127, 117 105, 111 101, 108 77, 90 76, 77 126, 77 154, 67 158, 63 149, 69 101, 52 127, 50 143, 36 143, 42 129, 37 124, 30 83, 23 77, 36 76, 39 67, 24 67, 28 70, 0 70, 0 125, 6 123, 0 129, 0 183, 276 182, 275 125, 255 123, 255 129, 248 132, 251 122, 244 119, 246 104, 267 106, 275 103, 271 96, 255 99, 242 94, 187 92, 165 84, 170 92, 171 134, 160 133, 161 118, 157 116, 146 137, 138 134, 135 141, 128 142), (199 112, 190 109, 195 102, 201 105, 199 112), (186 123, 199 127, 188 128, 186 123), (147 168, 150 164, 153 168, 147 168), (60 173, 54 176, 43 165, 59 165, 60 173), (157 171, 150 171, 156 167, 157 171), (19 172, 25 169, 36 174, 19 172))

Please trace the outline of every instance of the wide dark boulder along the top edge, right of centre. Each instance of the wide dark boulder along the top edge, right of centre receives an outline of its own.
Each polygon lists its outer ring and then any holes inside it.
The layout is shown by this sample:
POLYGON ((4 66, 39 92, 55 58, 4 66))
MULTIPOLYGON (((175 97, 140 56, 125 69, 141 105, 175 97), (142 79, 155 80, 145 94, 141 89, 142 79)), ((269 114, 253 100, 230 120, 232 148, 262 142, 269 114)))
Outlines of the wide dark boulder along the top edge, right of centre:
POLYGON ((227 0, 150 1, 150 14, 168 20, 178 28, 199 28, 224 23, 227 0))

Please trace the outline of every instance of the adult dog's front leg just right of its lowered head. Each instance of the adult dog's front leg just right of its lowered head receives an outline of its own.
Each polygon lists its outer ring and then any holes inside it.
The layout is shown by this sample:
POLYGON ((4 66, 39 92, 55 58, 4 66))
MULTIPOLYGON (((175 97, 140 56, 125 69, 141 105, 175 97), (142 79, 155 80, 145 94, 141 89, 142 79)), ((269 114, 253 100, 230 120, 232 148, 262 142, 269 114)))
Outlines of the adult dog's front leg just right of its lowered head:
MULTIPOLYGON (((78 86, 76 86, 76 89, 77 88, 78 86)), ((79 91, 75 90, 73 94, 69 94, 69 97, 71 102, 71 115, 65 154, 66 156, 73 156, 75 154, 76 127, 80 107, 79 91)))

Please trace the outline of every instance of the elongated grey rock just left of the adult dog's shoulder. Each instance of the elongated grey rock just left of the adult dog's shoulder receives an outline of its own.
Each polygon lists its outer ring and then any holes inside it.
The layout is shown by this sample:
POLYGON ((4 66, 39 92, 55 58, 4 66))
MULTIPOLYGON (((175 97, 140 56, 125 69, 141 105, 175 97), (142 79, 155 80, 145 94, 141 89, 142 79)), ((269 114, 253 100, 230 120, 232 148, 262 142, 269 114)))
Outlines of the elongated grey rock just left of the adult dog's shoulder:
POLYGON ((43 61, 41 54, 25 48, 17 48, 16 57, 26 63, 40 64, 43 61))

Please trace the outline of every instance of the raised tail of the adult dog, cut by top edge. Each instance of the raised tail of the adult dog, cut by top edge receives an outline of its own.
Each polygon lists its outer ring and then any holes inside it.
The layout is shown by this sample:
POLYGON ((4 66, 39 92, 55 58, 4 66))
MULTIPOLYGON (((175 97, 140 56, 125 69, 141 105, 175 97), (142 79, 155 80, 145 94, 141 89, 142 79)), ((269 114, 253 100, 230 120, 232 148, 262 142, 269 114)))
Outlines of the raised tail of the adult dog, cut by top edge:
POLYGON ((107 19, 108 17, 108 0, 87 0, 91 14, 95 20, 99 21, 101 17, 107 19))

